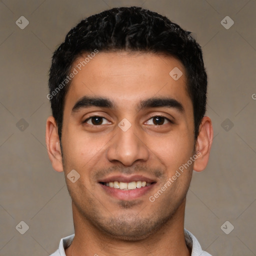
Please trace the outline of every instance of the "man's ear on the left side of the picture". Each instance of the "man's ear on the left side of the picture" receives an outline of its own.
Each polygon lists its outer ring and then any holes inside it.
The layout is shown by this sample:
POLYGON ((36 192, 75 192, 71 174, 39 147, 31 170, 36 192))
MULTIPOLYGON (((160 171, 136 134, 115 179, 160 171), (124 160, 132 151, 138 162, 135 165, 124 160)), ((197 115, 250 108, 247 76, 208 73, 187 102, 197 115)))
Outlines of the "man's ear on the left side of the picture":
POLYGON ((53 116, 49 116, 46 121, 45 141, 53 169, 63 171, 57 124, 53 116))

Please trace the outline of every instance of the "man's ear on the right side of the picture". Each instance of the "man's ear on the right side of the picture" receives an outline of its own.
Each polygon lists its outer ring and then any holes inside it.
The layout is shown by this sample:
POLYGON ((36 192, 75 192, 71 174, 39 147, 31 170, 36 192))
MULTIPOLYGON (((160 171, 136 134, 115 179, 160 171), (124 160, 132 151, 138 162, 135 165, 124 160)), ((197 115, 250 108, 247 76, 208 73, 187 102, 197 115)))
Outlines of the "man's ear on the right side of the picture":
POLYGON ((199 134, 196 139, 195 151, 198 152, 198 157, 194 161, 193 170, 202 171, 205 169, 209 159, 212 139, 213 128, 211 124, 211 119, 208 116, 204 116, 202 118, 199 127, 199 134))

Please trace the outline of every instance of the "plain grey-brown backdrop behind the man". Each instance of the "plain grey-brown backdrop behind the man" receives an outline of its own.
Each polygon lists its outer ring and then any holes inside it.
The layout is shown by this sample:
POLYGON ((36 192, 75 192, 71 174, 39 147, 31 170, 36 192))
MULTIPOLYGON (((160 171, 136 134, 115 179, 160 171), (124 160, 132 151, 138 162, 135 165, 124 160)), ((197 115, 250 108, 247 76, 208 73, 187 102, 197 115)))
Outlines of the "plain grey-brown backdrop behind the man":
POLYGON ((73 232, 63 173, 44 142, 51 55, 83 17, 131 5, 192 31, 204 54, 214 140, 207 168, 193 174, 185 227, 215 256, 256 255, 255 0, 0 1, 0 255, 48 255, 73 232), (21 15, 24 29, 15 24, 21 15), (220 23, 227 15, 229 29, 220 23))

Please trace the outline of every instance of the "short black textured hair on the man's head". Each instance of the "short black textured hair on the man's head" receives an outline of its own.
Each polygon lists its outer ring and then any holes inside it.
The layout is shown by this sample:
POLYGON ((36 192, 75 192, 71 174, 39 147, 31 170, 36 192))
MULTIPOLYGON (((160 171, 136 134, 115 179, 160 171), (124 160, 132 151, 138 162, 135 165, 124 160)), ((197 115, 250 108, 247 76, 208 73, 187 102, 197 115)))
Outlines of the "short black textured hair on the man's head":
POLYGON ((67 33, 64 42, 54 51, 47 98, 50 99, 59 139, 64 99, 70 85, 66 78, 73 62, 84 53, 115 50, 163 53, 181 61, 193 104, 196 139, 205 114, 207 91, 201 47, 191 32, 165 16, 136 6, 112 8, 86 17, 67 33))

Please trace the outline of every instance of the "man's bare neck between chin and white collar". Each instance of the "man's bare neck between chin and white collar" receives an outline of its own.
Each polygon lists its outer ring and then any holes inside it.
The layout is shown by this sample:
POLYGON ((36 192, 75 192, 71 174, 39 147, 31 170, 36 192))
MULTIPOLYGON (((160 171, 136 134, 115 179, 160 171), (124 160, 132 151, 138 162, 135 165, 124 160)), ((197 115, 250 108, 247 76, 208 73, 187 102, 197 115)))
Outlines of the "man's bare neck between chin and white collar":
POLYGON ((189 256, 191 253, 184 237, 185 199, 164 226, 138 241, 121 240, 102 233, 81 216, 74 204, 72 210, 75 236, 65 249, 66 256, 110 256, 120 255, 120 252, 129 256, 189 256))

